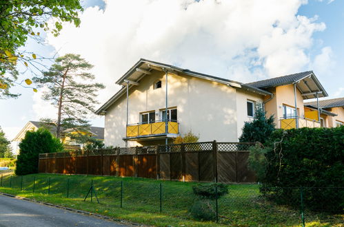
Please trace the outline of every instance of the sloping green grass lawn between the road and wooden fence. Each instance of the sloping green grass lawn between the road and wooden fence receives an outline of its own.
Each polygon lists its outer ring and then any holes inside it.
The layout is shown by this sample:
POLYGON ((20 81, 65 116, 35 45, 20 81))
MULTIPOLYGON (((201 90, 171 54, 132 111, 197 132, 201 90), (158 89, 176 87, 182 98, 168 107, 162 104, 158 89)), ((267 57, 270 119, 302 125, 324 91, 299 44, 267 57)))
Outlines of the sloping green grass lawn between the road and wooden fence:
MULTIPOLYGON (((0 171, 0 174, 3 172, 0 171)), ((26 175, 23 178, 12 176, 11 180, 7 172, 7 175, 3 176, 0 191, 153 226, 220 226, 224 224, 301 226, 299 210, 265 201, 260 197, 259 187, 250 184, 231 184, 229 186, 229 194, 219 199, 219 224, 196 221, 189 214, 196 199, 192 193, 194 184, 196 183, 132 177, 54 174, 26 175), (49 178, 50 195, 48 195, 49 178), (90 188, 91 180, 94 182, 100 204, 97 204, 95 198, 93 198, 93 202, 90 202, 89 198, 83 202, 83 198, 90 188), (123 184, 123 208, 120 208, 121 184, 123 184), (162 188, 161 213, 160 185, 162 188), (69 188, 68 191, 67 188, 69 188)), ((307 226, 343 226, 343 218, 343 215, 325 215, 305 211, 307 226)))

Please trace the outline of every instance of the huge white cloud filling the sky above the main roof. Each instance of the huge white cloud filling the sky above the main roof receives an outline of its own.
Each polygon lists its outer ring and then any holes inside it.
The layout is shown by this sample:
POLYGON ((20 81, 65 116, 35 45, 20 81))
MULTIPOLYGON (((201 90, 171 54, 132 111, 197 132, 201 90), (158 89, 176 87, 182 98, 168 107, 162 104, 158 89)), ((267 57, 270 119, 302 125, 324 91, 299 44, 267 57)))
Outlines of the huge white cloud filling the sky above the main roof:
POLYGON ((107 89, 139 58, 247 82, 299 72, 310 66, 307 51, 325 24, 297 16, 305 0, 106 1, 87 8, 80 28, 66 24, 48 43, 60 54, 81 54, 107 89))

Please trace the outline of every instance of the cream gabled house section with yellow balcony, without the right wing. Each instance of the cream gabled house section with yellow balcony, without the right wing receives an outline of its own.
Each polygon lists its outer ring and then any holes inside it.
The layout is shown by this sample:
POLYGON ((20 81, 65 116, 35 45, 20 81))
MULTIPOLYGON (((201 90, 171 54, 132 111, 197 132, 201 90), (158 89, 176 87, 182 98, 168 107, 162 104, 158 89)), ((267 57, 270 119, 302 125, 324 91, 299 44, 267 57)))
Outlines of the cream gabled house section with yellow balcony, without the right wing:
POLYGON ((171 142, 192 131, 200 141, 235 142, 254 105, 269 91, 173 65, 140 59, 117 84, 123 87, 96 114, 105 116, 105 145, 171 142), (166 118, 167 112, 167 118, 166 118))

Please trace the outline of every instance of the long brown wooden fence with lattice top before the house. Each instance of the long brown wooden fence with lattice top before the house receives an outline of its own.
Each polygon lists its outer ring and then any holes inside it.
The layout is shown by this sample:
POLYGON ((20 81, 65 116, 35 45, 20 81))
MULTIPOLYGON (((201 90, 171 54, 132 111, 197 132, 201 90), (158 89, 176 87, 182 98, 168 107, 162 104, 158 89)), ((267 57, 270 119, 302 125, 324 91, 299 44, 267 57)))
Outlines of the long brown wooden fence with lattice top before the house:
POLYGON ((42 153, 39 173, 114 175, 199 182, 256 182, 247 168, 254 143, 197 142, 42 153))

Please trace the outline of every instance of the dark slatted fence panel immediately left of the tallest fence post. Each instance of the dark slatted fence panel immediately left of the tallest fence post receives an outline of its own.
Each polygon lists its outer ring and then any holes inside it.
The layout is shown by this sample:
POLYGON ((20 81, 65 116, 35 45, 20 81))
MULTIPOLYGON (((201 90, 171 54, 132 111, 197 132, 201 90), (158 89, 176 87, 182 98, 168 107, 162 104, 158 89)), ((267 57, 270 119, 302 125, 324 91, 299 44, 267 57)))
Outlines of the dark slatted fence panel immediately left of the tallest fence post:
POLYGON ((214 180, 214 158, 212 152, 199 153, 199 180, 212 182, 214 180))

